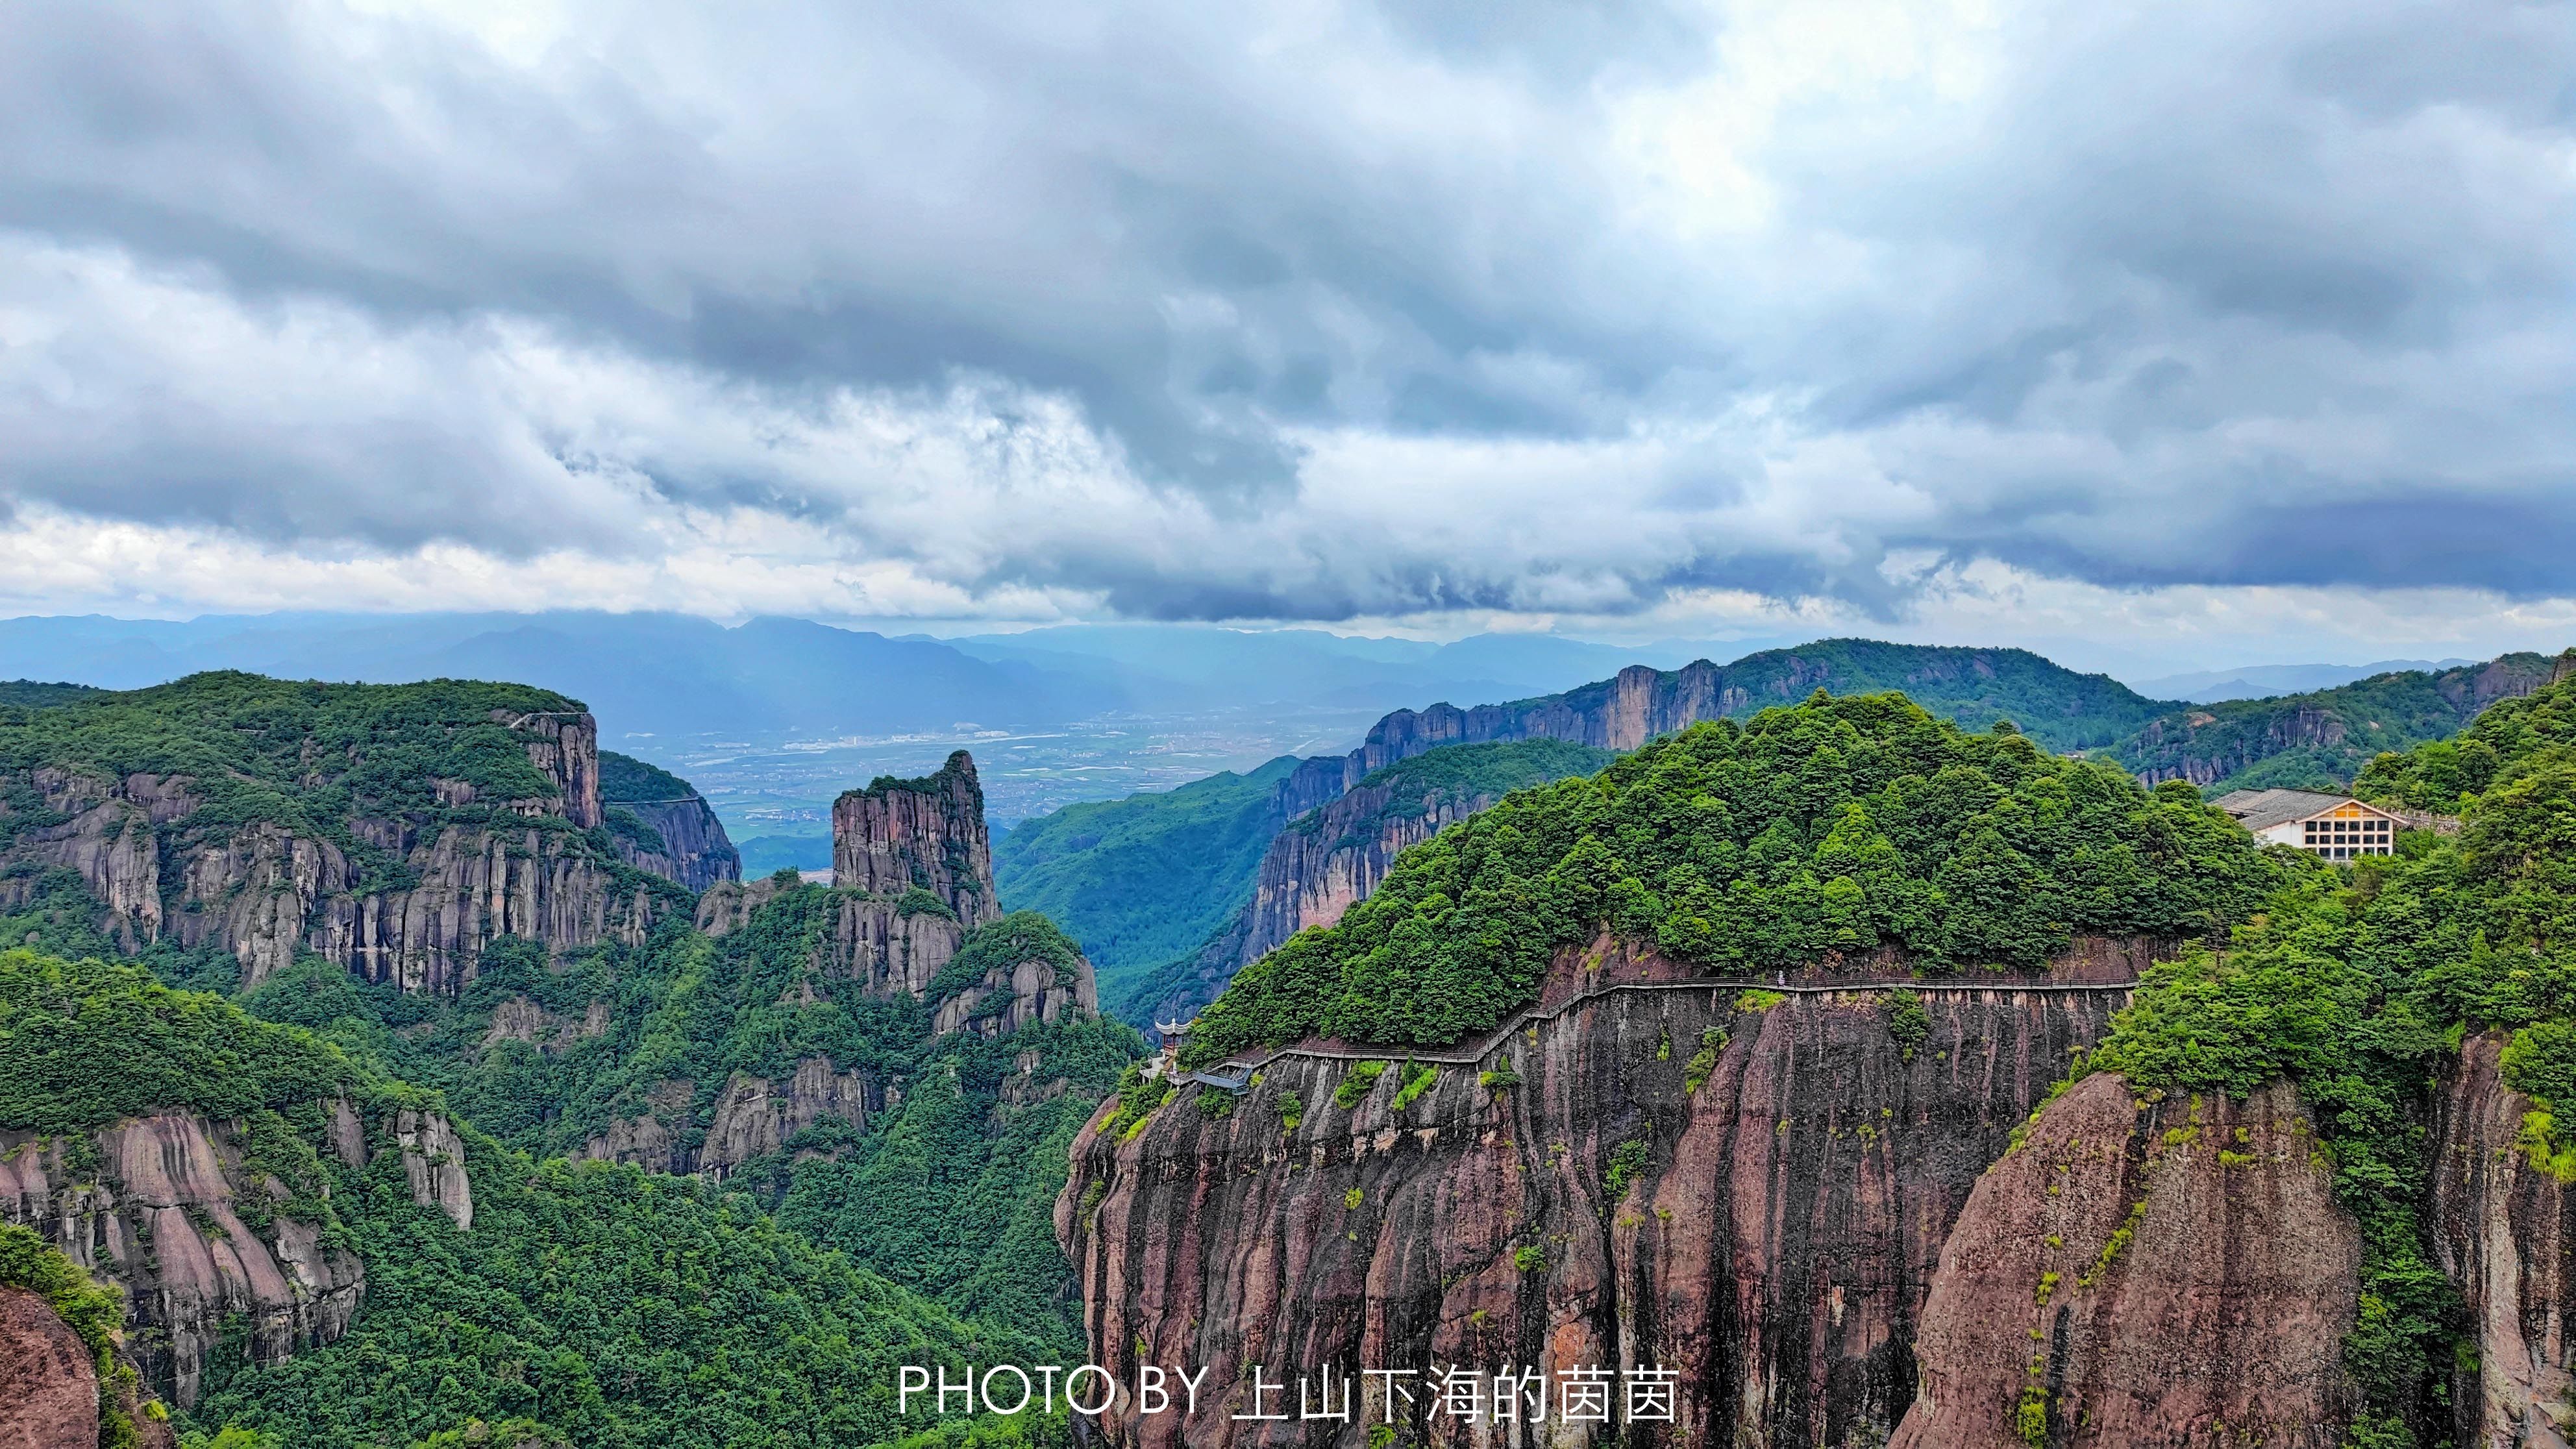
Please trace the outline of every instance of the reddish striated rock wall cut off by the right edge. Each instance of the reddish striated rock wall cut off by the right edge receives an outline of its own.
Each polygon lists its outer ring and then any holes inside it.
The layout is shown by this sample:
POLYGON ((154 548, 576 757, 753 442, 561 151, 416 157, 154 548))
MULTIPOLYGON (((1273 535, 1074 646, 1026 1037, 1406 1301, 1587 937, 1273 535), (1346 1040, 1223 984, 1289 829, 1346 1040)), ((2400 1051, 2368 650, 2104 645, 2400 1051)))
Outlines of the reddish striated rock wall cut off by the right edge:
POLYGON ((2478 1338, 2458 1434, 2478 1449, 2566 1449, 2576 1444, 2576 1194, 2519 1145, 2532 1101, 2496 1070, 2506 1039, 2463 1042, 2434 1091, 2434 1253, 2478 1338))

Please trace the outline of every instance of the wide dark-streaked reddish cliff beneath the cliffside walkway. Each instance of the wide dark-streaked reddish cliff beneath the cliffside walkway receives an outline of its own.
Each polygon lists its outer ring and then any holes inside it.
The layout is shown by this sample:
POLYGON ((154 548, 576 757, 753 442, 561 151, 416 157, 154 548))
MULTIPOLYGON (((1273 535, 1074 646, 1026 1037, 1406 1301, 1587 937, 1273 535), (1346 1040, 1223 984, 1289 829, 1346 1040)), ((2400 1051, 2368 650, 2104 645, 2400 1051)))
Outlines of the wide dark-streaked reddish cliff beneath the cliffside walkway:
MULTIPOLYGON (((2094 944, 2035 985, 2143 959, 2094 944)), ((1558 964, 1561 1013, 1443 1065, 1401 1111, 1401 1065, 1342 1109, 1347 1062, 1280 1057, 1231 1116, 1188 1088, 1131 1140, 1095 1119, 1056 1201, 1095 1361, 1131 1379, 1139 1354, 1198 1364, 1226 1387, 1255 1364, 1662 1364, 1690 1385, 1674 1444, 1883 1441, 1914 1403, 1953 1220, 2125 993, 1924 990, 1909 1052, 1878 990, 1762 1008, 1605 949, 1595 987, 1680 990, 1584 995, 1584 964, 1558 964)), ((1110 1439, 1296 1441, 1236 1408, 1121 1418, 1110 1439)), ((1468 1441, 1427 1413, 1409 1436, 1468 1441)))

